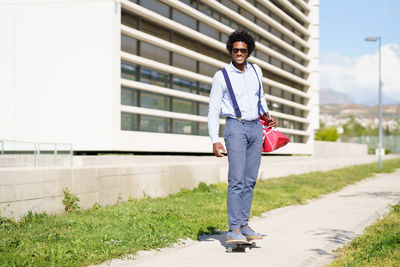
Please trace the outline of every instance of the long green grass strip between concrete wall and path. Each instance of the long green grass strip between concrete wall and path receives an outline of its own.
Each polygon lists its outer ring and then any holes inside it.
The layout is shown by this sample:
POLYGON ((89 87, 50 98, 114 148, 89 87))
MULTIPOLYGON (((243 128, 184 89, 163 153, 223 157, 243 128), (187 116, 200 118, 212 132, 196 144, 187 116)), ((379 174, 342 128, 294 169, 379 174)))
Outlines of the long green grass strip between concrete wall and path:
MULTIPOLYGON (((400 158, 329 172, 259 181, 252 216, 341 189, 400 168, 400 158)), ((224 183, 182 190, 167 198, 144 198, 63 215, 28 214, 16 223, 0 217, 0 266, 81 266, 157 249, 180 238, 197 239, 227 229, 224 183)))

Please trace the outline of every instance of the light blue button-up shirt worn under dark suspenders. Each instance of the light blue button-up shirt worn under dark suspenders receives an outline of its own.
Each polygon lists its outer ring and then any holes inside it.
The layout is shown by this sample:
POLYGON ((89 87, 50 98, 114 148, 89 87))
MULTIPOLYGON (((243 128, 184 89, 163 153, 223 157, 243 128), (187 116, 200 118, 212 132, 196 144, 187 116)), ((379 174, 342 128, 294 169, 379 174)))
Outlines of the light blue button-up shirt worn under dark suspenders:
MULTIPOLYGON (((264 112, 268 112, 267 101, 265 100, 262 89, 262 71, 259 66, 253 64, 257 71, 261 83, 261 105, 264 112)), ((258 94, 259 82, 257 75, 250 64, 246 64, 244 72, 238 70, 233 63, 226 67, 229 79, 232 84, 233 92, 236 97, 243 120, 255 120, 258 114, 258 94)), ((262 111, 260 111, 262 112, 262 111)), ((232 100, 229 96, 228 88, 222 71, 215 73, 210 93, 210 105, 208 108, 208 132, 212 143, 217 143, 219 137, 220 115, 236 118, 232 100)))

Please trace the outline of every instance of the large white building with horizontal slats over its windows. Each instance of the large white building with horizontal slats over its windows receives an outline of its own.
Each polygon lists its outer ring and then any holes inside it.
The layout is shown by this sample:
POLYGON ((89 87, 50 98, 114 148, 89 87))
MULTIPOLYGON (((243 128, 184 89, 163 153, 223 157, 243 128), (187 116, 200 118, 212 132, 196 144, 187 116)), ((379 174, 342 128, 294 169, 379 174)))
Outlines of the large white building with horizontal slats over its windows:
MULTIPOLYGON (((208 95, 227 36, 255 36, 271 114, 310 154, 318 0, 3 0, 0 139, 75 151, 211 152, 208 95)), ((221 119, 221 129, 224 120, 221 119)), ((221 135, 223 131, 221 131, 221 135)))

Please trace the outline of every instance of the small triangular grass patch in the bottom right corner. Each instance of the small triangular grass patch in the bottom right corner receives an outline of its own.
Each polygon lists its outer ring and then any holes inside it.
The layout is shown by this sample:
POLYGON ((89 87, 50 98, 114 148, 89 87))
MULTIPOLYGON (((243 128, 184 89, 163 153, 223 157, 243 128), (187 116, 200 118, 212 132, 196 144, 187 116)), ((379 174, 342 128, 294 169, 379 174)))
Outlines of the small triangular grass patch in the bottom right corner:
POLYGON ((400 266, 400 202, 340 249, 339 257, 329 266, 400 266))

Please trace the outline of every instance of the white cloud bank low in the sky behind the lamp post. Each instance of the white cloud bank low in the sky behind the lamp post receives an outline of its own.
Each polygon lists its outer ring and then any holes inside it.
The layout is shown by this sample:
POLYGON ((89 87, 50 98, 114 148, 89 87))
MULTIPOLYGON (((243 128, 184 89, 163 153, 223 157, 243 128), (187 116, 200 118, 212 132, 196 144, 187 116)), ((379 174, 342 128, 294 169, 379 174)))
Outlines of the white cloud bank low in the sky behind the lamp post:
MULTIPOLYGON (((382 48, 382 94, 384 103, 400 103, 400 46, 382 48)), ((320 88, 347 94, 356 103, 378 102, 378 51, 355 59, 341 54, 321 55, 320 88)))

